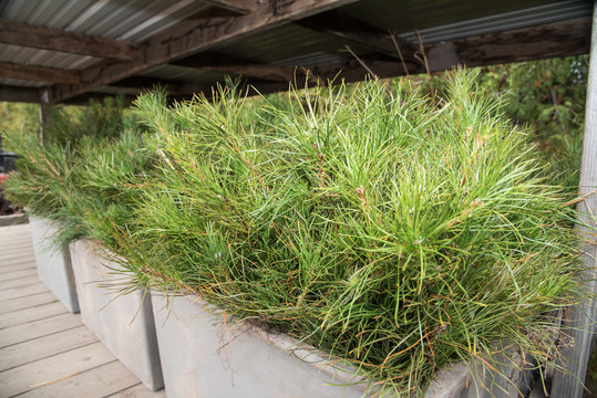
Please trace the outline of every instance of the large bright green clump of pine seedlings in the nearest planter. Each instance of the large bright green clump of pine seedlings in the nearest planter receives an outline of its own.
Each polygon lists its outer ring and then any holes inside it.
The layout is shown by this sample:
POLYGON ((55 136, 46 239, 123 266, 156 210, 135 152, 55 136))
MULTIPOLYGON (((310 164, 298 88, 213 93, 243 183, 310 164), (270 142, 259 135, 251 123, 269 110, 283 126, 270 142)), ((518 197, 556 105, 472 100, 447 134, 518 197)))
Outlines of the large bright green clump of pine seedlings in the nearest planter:
POLYGON ((132 284, 193 292, 421 395, 496 342, 554 359, 583 292, 573 210, 524 132, 455 73, 441 96, 366 82, 137 114, 158 158, 114 234, 132 284))

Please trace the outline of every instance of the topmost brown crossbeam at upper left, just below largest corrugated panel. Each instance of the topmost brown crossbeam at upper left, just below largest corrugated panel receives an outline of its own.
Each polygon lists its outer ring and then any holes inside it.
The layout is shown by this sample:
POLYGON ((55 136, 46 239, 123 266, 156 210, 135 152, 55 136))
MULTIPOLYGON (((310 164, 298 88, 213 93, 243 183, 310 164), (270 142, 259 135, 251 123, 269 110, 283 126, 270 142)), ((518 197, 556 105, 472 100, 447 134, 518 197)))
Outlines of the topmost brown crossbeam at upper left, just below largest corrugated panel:
POLYGON ((128 42, 34 27, 7 19, 0 19, 0 43, 121 61, 132 61, 136 56, 135 46, 128 42))

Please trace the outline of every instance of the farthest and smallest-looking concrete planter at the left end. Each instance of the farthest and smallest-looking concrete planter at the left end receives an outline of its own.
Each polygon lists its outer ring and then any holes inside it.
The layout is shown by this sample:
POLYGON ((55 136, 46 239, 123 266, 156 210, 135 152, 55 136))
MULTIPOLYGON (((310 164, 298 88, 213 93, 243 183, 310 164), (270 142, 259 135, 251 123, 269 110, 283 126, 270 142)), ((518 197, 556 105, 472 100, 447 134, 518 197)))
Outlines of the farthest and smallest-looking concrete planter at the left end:
POLYGON ((78 313, 79 301, 70 252, 68 249, 56 250, 51 247, 51 239, 60 230, 60 223, 30 217, 29 228, 40 280, 66 310, 78 313))

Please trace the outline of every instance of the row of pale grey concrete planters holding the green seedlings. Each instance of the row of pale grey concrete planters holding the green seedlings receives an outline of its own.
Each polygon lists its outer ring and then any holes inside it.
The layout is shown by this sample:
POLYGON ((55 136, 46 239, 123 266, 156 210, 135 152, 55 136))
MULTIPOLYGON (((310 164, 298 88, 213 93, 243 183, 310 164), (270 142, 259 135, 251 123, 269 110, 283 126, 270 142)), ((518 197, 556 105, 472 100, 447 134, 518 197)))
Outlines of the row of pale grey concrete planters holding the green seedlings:
MULTIPOLYGON (((106 285, 121 282, 112 272, 120 265, 99 245, 81 240, 71 244, 70 253, 47 249, 58 228, 31 220, 40 279, 56 297, 71 297, 65 306, 81 307, 85 325, 148 388, 159 389, 165 381, 168 398, 364 396, 367 384, 330 365, 319 352, 254 325, 226 323, 194 297, 116 295, 106 285)), ((485 368, 477 370, 475 377, 463 365, 441 371, 426 397, 517 395, 521 373, 502 369, 511 374, 511 384, 485 368)))

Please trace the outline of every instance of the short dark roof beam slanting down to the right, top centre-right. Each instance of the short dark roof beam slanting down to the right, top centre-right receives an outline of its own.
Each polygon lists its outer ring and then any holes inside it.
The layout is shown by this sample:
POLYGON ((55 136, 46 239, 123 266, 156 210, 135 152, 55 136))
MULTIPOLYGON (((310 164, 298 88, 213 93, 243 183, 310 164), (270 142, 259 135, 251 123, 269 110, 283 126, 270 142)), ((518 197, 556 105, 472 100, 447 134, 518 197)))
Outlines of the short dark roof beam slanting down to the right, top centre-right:
POLYGON ((397 50, 398 45, 404 61, 412 62, 413 54, 416 51, 413 43, 410 43, 398 35, 394 36, 394 43, 390 32, 336 10, 309 17, 297 21, 296 23, 349 42, 366 45, 393 57, 400 57, 397 50))

